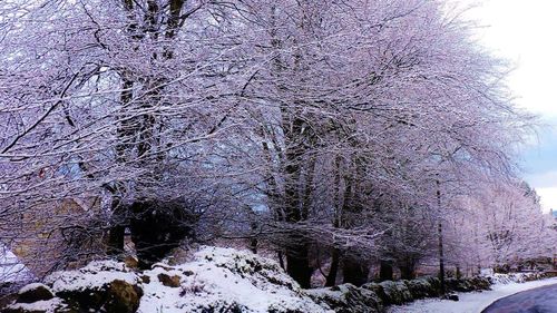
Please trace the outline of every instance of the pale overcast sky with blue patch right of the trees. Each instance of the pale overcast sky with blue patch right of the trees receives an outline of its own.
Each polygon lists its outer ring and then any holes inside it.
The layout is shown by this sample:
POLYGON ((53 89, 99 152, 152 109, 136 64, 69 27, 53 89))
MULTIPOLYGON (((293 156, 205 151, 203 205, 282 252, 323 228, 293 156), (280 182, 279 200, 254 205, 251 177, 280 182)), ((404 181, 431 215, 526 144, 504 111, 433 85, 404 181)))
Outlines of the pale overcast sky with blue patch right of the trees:
POLYGON ((517 104, 547 126, 524 154, 525 179, 545 211, 557 209, 557 12, 556 0, 453 0, 477 4, 469 16, 485 26, 483 46, 516 65, 509 78, 517 104))

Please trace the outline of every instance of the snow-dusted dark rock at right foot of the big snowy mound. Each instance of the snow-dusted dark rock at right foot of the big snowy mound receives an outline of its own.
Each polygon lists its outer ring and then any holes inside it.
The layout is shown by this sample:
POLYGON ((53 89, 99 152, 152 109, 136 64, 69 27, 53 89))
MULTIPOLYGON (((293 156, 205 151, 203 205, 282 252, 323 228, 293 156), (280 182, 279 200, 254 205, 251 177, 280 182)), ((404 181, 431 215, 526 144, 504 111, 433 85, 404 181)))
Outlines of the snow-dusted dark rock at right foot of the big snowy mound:
POLYGON ((374 313, 383 310, 381 299, 373 291, 352 284, 312 290, 309 294, 315 302, 336 313, 374 313))

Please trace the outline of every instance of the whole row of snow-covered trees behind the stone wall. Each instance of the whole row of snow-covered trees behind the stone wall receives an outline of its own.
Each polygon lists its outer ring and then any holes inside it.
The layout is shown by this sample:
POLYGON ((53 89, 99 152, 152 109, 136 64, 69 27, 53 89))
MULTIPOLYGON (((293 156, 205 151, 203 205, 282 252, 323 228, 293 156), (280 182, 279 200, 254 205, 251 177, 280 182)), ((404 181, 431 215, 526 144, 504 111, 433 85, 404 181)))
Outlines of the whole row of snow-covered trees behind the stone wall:
POLYGON ((233 246, 304 288, 553 258, 538 121, 476 28, 437 0, 1 0, 0 243, 36 278, 233 246))

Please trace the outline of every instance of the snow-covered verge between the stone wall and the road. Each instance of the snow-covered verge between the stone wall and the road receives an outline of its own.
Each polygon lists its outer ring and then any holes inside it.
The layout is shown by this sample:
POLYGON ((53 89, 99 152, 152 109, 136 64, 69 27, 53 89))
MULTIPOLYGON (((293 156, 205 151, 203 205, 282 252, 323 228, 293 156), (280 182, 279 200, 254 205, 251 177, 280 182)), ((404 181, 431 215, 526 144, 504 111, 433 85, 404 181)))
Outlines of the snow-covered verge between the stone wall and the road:
POLYGON ((427 299, 408 305, 392 306, 389 313, 479 313, 495 301, 508 295, 540 286, 557 284, 557 277, 527 282, 496 284, 492 291, 481 293, 459 293, 460 301, 427 299))

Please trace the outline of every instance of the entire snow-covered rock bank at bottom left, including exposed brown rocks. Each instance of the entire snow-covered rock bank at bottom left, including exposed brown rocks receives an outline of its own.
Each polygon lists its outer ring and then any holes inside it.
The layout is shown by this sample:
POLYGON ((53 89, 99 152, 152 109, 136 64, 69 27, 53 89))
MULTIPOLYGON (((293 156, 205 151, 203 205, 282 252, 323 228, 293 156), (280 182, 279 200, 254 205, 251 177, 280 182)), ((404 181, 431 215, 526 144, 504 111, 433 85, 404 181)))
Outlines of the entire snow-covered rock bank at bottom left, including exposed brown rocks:
POLYGON ((114 261, 92 262, 21 292, 39 287, 55 297, 17 301, 7 312, 334 312, 315 303, 276 262, 232 248, 202 247, 190 262, 157 263, 143 273, 114 261))

